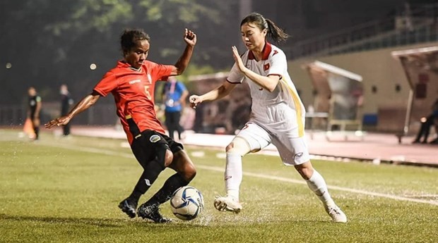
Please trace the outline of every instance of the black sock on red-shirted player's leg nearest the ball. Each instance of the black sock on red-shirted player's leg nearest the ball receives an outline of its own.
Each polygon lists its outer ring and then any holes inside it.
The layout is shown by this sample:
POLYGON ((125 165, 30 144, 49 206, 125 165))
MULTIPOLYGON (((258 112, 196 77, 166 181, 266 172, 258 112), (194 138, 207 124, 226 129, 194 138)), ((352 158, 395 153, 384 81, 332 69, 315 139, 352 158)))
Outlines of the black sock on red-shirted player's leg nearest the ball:
POLYGON ((189 185, 189 182, 185 180, 182 175, 179 175, 179 173, 175 173, 166 180, 165 184, 162 185, 160 190, 158 190, 158 192, 155 193, 155 195, 153 195, 153 197, 151 197, 146 204, 164 204, 170 199, 170 197, 172 197, 172 194, 176 189, 187 185, 189 185))

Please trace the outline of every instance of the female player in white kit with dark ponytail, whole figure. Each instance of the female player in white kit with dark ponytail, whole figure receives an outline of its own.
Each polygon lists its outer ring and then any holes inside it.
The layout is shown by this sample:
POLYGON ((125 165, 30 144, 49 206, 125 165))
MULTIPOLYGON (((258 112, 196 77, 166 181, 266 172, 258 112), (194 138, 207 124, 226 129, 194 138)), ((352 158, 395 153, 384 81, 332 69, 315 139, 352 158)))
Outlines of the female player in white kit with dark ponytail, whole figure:
POLYGON ((277 46, 266 41, 281 42, 288 35, 271 20, 259 13, 247 15, 240 23, 242 41, 247 51, 239 56, 235 46, 235 64, 223 85, 201 96, 190 96, 196 108, 203 101, 214 101, 230 94, 236 85, 249 84, 252 107, 251 118, 232 142, 228 144, 225 168, 226 197, 214 201, 219 211, 242 210, 239 187, 242 182, 242 156, 274 144, 285 165, 295 169, 319 197, 334 222, 345 223, 347 217, 331 198, 324 178, 312 167, 304 137, 304 106, 297 89, 288 75, 286 56, 277 46))

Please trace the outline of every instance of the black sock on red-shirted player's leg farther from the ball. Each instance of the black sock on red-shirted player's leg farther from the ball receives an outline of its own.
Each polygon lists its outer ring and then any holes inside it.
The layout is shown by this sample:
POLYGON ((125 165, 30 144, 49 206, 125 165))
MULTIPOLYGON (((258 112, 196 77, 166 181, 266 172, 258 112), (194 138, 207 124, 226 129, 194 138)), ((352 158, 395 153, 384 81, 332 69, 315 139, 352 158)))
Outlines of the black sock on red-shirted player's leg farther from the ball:
POLYGON ((138 179, 136 187, 134 187, 134 191, 129 196, 129 199, 137 203, 141 195, 145 194, 153 182, 155 182, 162 170, 162 166, 157 161, 150 161, 143 170, 140 179, 138 179))

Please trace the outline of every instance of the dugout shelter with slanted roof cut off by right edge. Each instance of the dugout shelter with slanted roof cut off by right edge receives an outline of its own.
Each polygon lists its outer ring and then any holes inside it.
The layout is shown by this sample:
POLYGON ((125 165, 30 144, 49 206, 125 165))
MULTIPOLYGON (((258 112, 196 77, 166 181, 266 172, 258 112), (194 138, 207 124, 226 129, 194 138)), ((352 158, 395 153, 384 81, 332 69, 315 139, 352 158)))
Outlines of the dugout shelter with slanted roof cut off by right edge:
POLYGON ((401 143, 401 137, 418 132, 420 119, 432 112, 438 99, 438 46, 392 51, 391 55, 400 61, 410 87, 403 131, 397 134, 401 143))

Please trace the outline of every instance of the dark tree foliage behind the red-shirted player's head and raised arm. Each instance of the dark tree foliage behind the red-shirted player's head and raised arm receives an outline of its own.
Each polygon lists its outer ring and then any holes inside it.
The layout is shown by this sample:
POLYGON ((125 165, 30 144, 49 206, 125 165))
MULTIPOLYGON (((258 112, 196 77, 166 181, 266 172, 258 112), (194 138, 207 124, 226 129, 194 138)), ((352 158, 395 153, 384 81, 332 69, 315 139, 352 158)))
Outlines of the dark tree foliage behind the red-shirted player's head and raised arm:
POLYGON ((198 35, 192 63, 229 66, 230 51, 223 49, 238 37, 236 32, 236 38, 230 38, 236 27, 236 21, 230 21, 235 5, 232 0, 1 1, 0 61, 13 67, 1 72, 8 91, 0 103, 19 101, 30 85, 47 89, 52 98, 61 83, 83 94, 121 57, 118 38, 127 27, 141 27, 151 36, 152 61, 175 63, 187 27, 198 35), (97 70, 91 71, 90 63, 96 63, 97 70))

